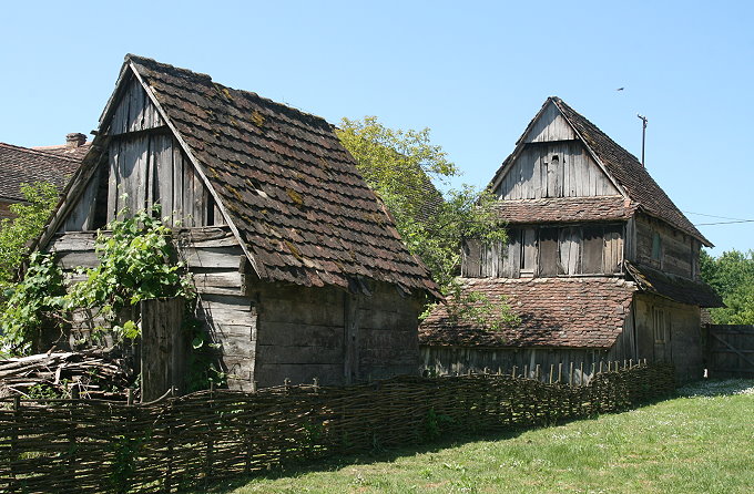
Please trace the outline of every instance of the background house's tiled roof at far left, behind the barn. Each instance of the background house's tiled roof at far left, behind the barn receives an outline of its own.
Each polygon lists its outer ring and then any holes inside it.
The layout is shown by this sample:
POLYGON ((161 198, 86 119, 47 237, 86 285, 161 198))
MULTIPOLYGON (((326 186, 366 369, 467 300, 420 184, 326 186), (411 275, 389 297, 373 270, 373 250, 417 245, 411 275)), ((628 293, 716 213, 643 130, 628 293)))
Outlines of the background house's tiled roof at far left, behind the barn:
POLYGON ((0 143, 0 198, 21 202, 21 184, 34 182, 50 182, 62 191, 79 164, 73 157, 0 143))

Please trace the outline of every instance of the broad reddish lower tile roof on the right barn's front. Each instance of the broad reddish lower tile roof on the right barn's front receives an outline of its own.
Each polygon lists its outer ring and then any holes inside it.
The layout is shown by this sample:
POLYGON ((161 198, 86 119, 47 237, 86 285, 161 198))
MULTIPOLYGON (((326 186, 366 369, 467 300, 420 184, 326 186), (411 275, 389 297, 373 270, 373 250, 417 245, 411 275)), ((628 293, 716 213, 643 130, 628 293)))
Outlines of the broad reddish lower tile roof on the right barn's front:
POLYGON ((438 306, 419 327, 419 344, 445 347, 610 348, 623 328, 636 286, 618 278, 467 278, 465 290, 506 297, 518 327, 499 331, 454 321, 438 306))

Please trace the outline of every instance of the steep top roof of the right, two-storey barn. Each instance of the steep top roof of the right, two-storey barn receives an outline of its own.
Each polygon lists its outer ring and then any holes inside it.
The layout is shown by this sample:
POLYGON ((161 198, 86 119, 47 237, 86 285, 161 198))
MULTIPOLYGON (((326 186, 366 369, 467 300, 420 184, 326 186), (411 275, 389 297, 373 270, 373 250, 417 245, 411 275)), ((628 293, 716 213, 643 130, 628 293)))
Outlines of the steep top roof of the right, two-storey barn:
POLYGON ((544 101, 542 109, 532 119, 527 130, 516 143, 516 151, 511 153, 496 173, 492 183, 498 181, 507 166, 518 155, 519 150, 526 144, 523 142, 524 137, 549 104, 553 104, 560 111, 588 151, 598 161, 598 164, 619 185, 619 188, 625 193, 628 198, 638 204, 640 210, 666 222, 671 226, 697 238, 707 247, 712 247, 710 240, 681 213, 633 154, 621 147, 597 125, 557 96, 550 96, 544 101))

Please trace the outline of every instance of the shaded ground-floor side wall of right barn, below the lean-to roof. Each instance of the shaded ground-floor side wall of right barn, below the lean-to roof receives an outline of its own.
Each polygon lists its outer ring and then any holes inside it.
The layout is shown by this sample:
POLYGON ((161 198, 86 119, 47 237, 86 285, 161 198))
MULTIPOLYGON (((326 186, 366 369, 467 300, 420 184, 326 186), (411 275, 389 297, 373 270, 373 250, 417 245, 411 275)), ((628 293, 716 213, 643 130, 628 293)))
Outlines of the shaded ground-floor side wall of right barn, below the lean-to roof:
POLYGON ((634 296, 633 315, 639 354, 652 361, 674 362, 681 381, 702 378, 704 364, 699 307, 638 294, 634 296), (662 316, 658 317, 658 312, 662 316), (655 327, 658 323, 662 326, 655 327))

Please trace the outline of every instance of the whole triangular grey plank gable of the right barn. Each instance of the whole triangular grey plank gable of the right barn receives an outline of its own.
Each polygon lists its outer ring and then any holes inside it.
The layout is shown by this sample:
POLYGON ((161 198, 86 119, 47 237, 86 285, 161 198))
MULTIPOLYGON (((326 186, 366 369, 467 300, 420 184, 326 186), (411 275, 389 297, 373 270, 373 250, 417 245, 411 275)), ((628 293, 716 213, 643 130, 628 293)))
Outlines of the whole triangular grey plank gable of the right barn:
POLYGON ((490 188, 502 199, 624 195, 552 99, 529 123, 490 188))

